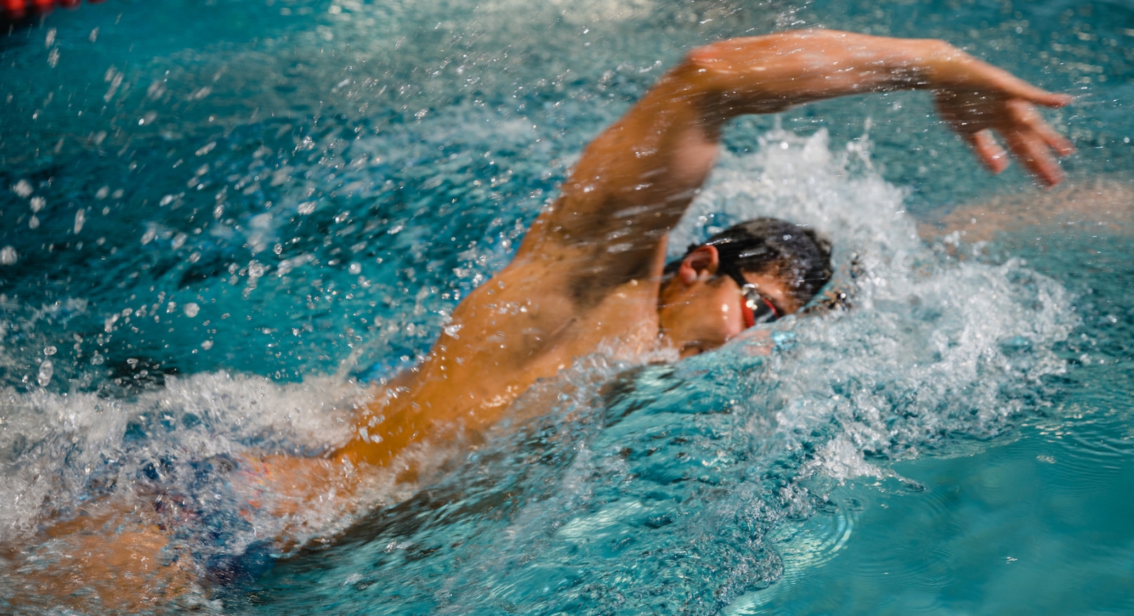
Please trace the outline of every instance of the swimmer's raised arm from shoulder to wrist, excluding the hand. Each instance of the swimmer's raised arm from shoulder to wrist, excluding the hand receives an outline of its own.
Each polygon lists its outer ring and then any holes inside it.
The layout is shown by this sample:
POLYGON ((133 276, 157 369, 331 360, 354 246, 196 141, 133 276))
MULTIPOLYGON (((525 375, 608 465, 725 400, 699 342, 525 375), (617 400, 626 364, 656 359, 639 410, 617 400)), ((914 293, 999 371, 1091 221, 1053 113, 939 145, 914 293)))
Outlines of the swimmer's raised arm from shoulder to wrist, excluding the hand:
POLYGON ((713 166, 723 122, 818 99, 915 87, 916 71, 903 61, 917 44, 936 42, 895 41, 804 31, 693 50, 586 147, 561 196, 533 223, 517 263, 543 262, 581 306, 655 273, 667 233, 713 166))

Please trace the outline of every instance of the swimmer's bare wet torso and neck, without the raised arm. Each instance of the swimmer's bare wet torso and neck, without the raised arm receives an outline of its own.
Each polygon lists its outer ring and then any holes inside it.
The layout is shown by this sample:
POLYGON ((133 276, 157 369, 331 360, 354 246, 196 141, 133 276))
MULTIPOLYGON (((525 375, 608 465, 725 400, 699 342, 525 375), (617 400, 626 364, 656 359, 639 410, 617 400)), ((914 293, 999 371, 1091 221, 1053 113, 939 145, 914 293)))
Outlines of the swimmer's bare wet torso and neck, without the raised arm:
POLYGON ((457 307, 421 365, 381 387, 339 453, 387 465, 413 443, 459 430, 475 436, 538 379, 604 344, 619 358, 652 350, 663 248, 652 275, 602 290, 583 309, 558 272, 565 263, 517 258, 457 307))

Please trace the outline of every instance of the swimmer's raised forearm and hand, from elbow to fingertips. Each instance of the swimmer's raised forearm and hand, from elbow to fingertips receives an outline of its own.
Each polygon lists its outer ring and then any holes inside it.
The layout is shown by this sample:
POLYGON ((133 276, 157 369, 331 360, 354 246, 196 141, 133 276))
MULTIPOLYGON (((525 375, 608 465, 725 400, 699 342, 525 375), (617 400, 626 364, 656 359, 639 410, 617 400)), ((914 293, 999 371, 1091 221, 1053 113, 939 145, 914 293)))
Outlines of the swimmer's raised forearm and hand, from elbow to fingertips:
MULTIPOLYGON (((992 131, 1048 186, 1063 179, 1056 156, 1075 149, 1035 110, 1066 105, 1070 96, 1044 92, 943 41, 782 32, 696 49, 670 75, 668 116, 691 102, 700 110, 701 126, 710 128, 742 113, 772 113, 836 96, 929 89, 945 121, 993 173, 1004 171, 1008 159, 992 131)), ((666 86, 663 82, 655 92, 666 86)))

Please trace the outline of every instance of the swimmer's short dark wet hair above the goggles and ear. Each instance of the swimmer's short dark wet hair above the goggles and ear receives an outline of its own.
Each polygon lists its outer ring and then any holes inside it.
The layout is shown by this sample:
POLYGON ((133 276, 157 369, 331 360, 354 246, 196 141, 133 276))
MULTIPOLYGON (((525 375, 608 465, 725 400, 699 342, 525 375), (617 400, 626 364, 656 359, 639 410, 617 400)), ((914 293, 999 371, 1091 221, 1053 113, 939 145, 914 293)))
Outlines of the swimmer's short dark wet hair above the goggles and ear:
POLYGON ((720 256, 720 274, 743 280, 742 272, 769 270, 781 276, 799 303, 807 303, 831 280, 831 242, 812 229, 779 219, 755 219, 717 233, 704 243, 689 245, 685 255, 666 264, 672 276, 689 253, 713 246, 720 256))

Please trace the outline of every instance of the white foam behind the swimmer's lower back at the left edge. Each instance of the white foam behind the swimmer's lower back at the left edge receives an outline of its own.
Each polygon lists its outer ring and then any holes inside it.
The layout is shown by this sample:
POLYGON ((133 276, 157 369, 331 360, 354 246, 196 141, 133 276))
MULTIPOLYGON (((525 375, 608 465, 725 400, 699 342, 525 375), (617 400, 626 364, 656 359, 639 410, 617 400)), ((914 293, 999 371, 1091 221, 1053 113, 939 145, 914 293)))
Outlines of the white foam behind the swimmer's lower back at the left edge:
POLYGON ((7 459, 0 477, 3 540, 32 530, 44 507, 66 514, 88 496, 91 480, 128 494, 143 470, 160 469, 163 459, 327 451, 346 442, 349 414, 369 393, 325 377, 280 385, 222 371, 167 377, 164 387, 134 400, 14 388, 0 396, 0 455, 7 459), (147 433, 139 447, 126 439, 130 422, 147 433))

